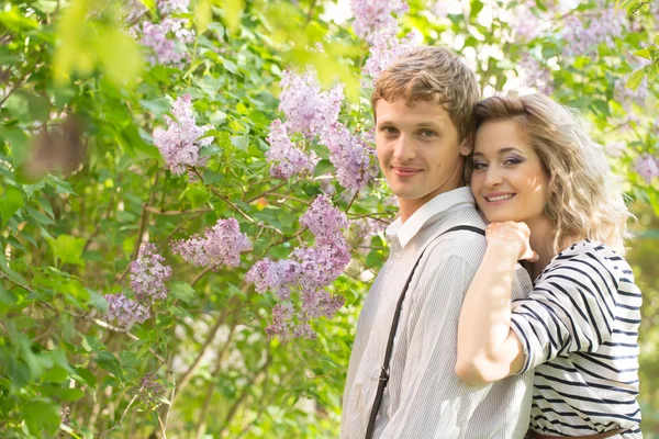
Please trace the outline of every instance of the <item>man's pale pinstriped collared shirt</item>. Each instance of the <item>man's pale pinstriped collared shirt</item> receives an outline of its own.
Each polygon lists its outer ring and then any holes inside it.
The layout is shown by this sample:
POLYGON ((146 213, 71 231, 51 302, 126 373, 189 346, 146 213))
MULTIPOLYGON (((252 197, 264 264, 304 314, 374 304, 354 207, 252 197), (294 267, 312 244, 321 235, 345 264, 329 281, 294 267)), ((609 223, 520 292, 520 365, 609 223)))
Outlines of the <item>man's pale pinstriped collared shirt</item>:
MULTIPOLYGON (((462 299, 483 258, 484 228, 468 188, 437 195, 404 224, 389 229, 390 256, 364 304, 343 399, 342 438, 364 439, 398 299, 420 254, 403 303, 390 379, 376 420, 375 438, 521 439, 528 427, 533 374, 472 386, 455 373, 462 299), (432 244, 429 244, 432 241, 432 244)), ((532 289, 518 269, 513 295, 532 289)))

